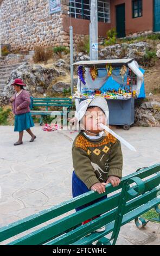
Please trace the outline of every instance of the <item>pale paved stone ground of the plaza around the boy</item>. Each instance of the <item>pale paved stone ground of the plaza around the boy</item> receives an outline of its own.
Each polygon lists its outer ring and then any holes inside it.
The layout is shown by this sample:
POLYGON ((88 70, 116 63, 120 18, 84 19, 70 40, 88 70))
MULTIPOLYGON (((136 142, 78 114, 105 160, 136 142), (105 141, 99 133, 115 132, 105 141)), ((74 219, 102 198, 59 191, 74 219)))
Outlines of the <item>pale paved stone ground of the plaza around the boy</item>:
MULTIPOLYGON (((44 132, 37 125, 33 129, 36 141, 29 143, 30 137, 24 133, 23 145, 15 147, 17 133, 13 130, 12 126, 0 126, 1 227, 72 197, 71 148, 77 132, 44 132)), ((123 175, 159 162, 159 128, 115 131, 137 149, 135 153, 122 145, 123 175)), ((157 223, 149 223, 145 229, 137 229, 131 222, 121 228, 117 245, 160 244, 159 227, 157 223)))

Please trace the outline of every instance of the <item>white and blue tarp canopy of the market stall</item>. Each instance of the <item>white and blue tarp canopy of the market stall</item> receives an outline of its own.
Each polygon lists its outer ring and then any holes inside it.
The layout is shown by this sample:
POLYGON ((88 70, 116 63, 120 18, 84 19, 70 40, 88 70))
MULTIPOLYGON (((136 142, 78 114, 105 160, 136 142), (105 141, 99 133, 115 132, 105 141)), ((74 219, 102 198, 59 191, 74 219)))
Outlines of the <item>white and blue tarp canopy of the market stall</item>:
POLYGON ((86 85, 80 83, 78 78, 77 88, 80 92, 82 88, 93 89, 118 89, 120 86, 126 84, 126 76, 122 80, 120 75, 120 69, 123 65, 126 65, 127 69, 131 69, 137 76, 137 84, 133 85, 133 90, 136 90, 138 97, 145 97, 144 89, 144 70, 139 68, 138 63, 134 59, 106 59, 106 60, 88 60, 73 63, 72 65, 82 65, 85 67, 85 82, 86 85), (107 76, 106 65, 110 64, 113 68, 112 75, 107 76), (98 68, 98 77, 92 80, 89 72, 89 68, 95 65, 98 68))

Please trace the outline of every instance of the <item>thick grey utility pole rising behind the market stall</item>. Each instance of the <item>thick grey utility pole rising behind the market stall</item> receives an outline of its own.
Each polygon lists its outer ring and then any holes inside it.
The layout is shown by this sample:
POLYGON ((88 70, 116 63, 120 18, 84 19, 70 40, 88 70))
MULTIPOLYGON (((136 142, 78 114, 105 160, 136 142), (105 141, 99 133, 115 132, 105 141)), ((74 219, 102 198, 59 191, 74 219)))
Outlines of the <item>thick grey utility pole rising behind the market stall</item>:
POLYGON ((98 60, 98 0, 91 0, 92 60, 98 60))

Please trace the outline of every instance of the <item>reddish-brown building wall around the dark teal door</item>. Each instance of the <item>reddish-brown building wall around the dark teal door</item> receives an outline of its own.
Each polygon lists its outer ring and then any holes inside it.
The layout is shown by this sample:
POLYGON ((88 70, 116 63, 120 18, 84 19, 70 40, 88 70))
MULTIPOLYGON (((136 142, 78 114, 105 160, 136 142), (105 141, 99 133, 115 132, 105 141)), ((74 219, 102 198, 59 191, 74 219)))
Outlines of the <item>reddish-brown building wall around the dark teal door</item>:
POLYGON ((126 35, 153 31, 153 0, 143 0, 143 16, 132 18, 132 0, 111 0, 111 27, 116 28, 116 5, 125 3, 126 35))

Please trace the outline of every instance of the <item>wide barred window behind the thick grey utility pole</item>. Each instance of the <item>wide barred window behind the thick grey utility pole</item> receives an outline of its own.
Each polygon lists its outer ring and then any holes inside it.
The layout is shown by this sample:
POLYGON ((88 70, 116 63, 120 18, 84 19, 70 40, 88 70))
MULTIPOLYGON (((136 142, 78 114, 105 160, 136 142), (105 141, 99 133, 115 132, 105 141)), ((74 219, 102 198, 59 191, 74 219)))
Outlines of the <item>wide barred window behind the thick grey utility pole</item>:
MULTIPOLYGON (((76 19, 90 20, 91 0, 69 0, 69 13, 76 19)), ((98 0, 98 21, 110 22, 110 0, 98 0)))

